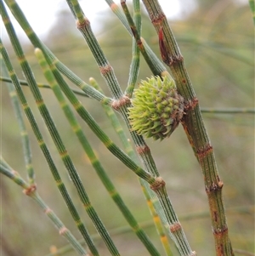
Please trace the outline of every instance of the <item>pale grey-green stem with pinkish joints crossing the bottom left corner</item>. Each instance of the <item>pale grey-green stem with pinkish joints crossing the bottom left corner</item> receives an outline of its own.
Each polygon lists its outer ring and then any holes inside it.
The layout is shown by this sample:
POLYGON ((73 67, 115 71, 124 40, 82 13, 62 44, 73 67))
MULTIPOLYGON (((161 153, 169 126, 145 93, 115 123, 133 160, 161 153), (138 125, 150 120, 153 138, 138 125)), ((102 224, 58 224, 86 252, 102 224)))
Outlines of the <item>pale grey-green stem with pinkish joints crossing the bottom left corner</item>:
POLYGON ((65 239, 70 242, 71 246, 77 251, 79 255, 88 255, 86 250, 82 247, 81 243, 78 242, 75 236, 71 234, 71 231, 65 227, 65 225, 54 213, 54 211, 50 209, 45 202, 43 202, 41 196, 39 196, 37 192, 36 185, 29 185, 26 183, 26 181, 20 177, 18 172, 8 167, 2 156, 0 156, 0 173, 7 176, 9 179, 12 179, 17 185, 20 185, 24 189, 24 194, 26 196, 30 196, 35 202, 37 202, 37 205, 42 209, 43 213, 48 216, 48 218, 54 223, 57 230, 59 230, 59 234, 64 236, 65 239))

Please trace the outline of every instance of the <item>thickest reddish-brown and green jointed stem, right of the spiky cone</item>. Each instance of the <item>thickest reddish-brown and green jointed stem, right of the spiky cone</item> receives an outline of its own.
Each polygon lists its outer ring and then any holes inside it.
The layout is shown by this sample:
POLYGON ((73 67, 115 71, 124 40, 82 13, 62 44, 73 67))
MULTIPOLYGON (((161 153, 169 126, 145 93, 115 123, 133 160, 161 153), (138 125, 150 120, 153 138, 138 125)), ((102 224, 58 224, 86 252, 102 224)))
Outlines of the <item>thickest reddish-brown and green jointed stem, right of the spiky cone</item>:
POLYGON ((184 66, 184 59, 173 36, 173 31, 167 23, 166 15, 163 13, 158 1, 143 0, 143 2, 159 35, 162 60, 170 67, 177 83, 178 92, 187 102, 186 115, 182 124, 204 174, 217 255, 234 255, 229 241, 228 226, 224 212, 223 182, 219 178, 212 145, 201 117, 194 88, 184 66))

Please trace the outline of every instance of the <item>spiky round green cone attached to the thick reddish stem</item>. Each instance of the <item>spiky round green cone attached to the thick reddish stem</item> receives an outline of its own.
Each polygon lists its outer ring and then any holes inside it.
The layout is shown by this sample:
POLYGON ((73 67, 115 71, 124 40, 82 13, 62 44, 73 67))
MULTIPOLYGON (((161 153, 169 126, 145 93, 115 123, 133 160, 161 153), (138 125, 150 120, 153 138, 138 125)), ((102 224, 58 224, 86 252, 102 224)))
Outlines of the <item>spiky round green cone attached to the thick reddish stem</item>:
POLYGON ((165 139, 178 127, 184 115, 184 98, 168 77, 150 77, 134 90, 129 122, 146 138, 165 139))

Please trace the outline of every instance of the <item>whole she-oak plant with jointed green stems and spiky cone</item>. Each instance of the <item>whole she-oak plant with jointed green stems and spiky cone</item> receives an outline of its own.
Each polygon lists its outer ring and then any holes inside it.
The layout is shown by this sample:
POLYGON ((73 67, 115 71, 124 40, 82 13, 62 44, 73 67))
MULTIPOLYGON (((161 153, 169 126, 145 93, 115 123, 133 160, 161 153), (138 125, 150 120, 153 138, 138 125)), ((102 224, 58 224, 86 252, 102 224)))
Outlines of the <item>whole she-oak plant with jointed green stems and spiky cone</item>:
MULTIPOLYGON (((229 241, 228 226, 224 213, 224 202, 222 199, 223 182, 218 175, 212 145, 210 144, 206 128, 201 118, 198 100, 195 97, 195 92, 191 85, 190 78, 184 67, 184 58, 179 52, 178 45, 173 37, 173 32, 167 23, 166 16, 163 14, 159 3, 152 0, 143 1, 144 7, 147 9, 148 14, 150 15, 150 20, 158 32, 161 58, 163 62, 170 67, 173 73, 173 78, 169 75, 164 65, 161 64, 161 61, 158 60, 156 55, 151 51, 144 39, 139 36, 141 30, 139 1, 133 0, 134 18, 132 18, 129 14, 125 1, 121 1, 123 12, 112 1, 106 1, 110 5, 113 12, 121 20, 122 24, 126 27, 127 31, 133 35, 133 62, 130 67, 127 89, 123 93, 113 69, 108 60, 106 60, 105 54, 100 48, 96 37, 94 37, 94 33, 89 25, 89 20, 83 14, 79 3, 75 0, 67 0, 66 2, 77 20, 78 30, 81 31, 82 36, 88 43, 88 47, 90 48, 92 54, 94 54, 94 59, 99 65, 99 71, 101 72, 102 77, 104 77, 105 82, 111 91, 112 98, 105 97, 103 92, 99 92, 99 88, 94 88, 93 86, 88 85, 87 83, 83 82, 81 78, 72 73, 40 41, 35 32, 32 31, 31 26, 28 24, 26 17, 24 14, 22 14, 17 3, 15 3, 15 1, 5 1, 8 8, 14 14, 15 19, 18 20, 20 26, 26 32, 27 37, 29 37, 31 43, 36 48, 36 55, 40 65, 42 65, 44 75, 48 79, 48 84, 53 89, 54 94, 58 98, 59 103, 63 108, 63 111, 66 111, 66 117, 68 118, 69 122, 71 122, 71 126, 80 139, 80 142, 83 143, 84 151, 86 151, 88 154, 88 158, 90 159, 96 172, 99 174, 100 179, 102 179, 107 191, 109 191, 111 197, 119 206, 123 215, 127 219, 127 222, 132 226, 134 232, 137 234, 137 236, 139 236, 141 242, 144 243, 144 246, 148 249, 148 252, 151 255, 159 255, 156 248, 151 244, 149 238, 144 234, 144 231, 139 227, 136 220, 133 219, 132 213, 130 213, 125 207, 121 197, 111 184, 111 180, 107 178, 104 169, 100 165, 99 159, 97 159, 97 157, 94 155, 92 147, 88 144, 88 140, 86 139, 85 135, 82 134, 82 129, 74 119, 71 109, 63 100, 64 98, 61 96, 62 93, 65 94, 66 98, 70 101, 71 105, 73 105, 80 117, 82 117, 82 119, 88 124, 88 127, 94 131, 94 134, 98 136, 105 147, 111 151, 113 155, 120 159, 128 168, 133 170, 133 173, 139 176, 140 184, 142 185, 144 195, 150 204, 150 211, 155 217, 154 220, 156 222, 156 227, 161 236, 161 241, 167 255, 172 255, 172 253, 167 243, 166 235, 161 229, 161 223, 166 228, 165 230, 167 232, 167 236, 173 240, 178 248, 180 255, 191 256, 195 255, 195 251, 191 250, 189 242, 184 235, 184 230, 178 221, 178 217, 174 212, 172 203, 167 195, 165 182, 160 177, 153 157, 150 154, 150 148, 148 145, 146 145, 143 138, 143 134, 145 134, 146 137, 153 137, 154 139, 164 139, 169 137, 180 122, 184 127, 190 141, 190 145, 195 152, 195 156, 201 165, 204 175, 212 219, 212 232, 215 238, 216 254, 234 255, 229 241), (144 60, 146 60, 155 77, 151 77, 147 80, 144 79, 144 82, 142 82, 140 87, 134 91, 133 95, 133 88, 137 82, 139 72, 139 52, 143 54, 144 60), (77 85, 78 88, 81 88, 86 96, 93 98, 94 100, 98 100, 100 103, 105 105, 105 107, 107 107, 107 111, 111 112, 109 116, 113 116, 112 109, 117 111, 122 116, 130 130, 133 143, 143 164, 143 168, 139 166, 132 148, 127 143, 127 138, 125 135, 121 134, 120 137, 122 138, 122 143, 127 154, 120 150, 94 121, 93 117, 90 116, 88 111, 82 106, 79 100, 77 100, 76 95, 72 92, 71 88, 69 88, 62 75, 77 85), (139 118, 141 115, 143 118, 139 118), (159 216, 161 221, 159 221, 156 216, 159 216)), ((79 179, 79 175, 77 174, 77 169, 75 168, 71 161, 71 157, 68 155, 68 152, 65 149, 65 145, 59 136, 58 130, 54 126, 54 121, 50 117, 48 108, 43 102, 42 95, 37 87, 37 82, 33 77, 31 68, 26 61, 25 55, 23 54, 20 42, 15 35, 14 28, 8 18, 8 14, 2 0, 0 1, 0 5, 3 22, 8 31, 11 43, 13 44, 15 54, 18 56, 20 66, 26 77, 26 81, 37 102, 37 107, 46 123, 46 126, 48 127, 49 133, 54 140, 54 144, 59 151, 59 156, 64 162, 65 168, 67 169, 74 185, 77 188, 77 194, 84 205, 88 216, 92 219, 95 227, 99 231, 99 235, 102 237, 105 245, 108 247, 111 255, 120 255, 114 242, 112 242, 111 237, 105 229, 105 226, 99 219, 99 215, 91 205, 85 187, 82 185, 82 180, 79 179)), ((93 255, 99 255, 91 236, 88 234, 88 230, 82 223, 75 206, 71 202, 71 198, 61 180, 57 168, 54 166, 54 162, 48 152, 48 147, 42 138, 40 129, 37 127, 37 123, 32 116, 31 109, 26 102, 26 98, 22 92, 22 88, 20 87, 20 82, 15 76, 12 65, 8 60, 8 54, 3 47, 3 43, 0 43, 1 54, 3 55, 3 60, 8 69, 9 77, 11 77, 13 81, 16 94, 18 95, 21 105, 26 112, 26 117, 31 123, 31 128, 37 137, 38 143, 48 162, 48 166, 54 176, 56 184, 58 185, 59 191, 62 194, 66 205, 71 211, 71 215, 77 224, 77 228, 82 233, 90 252, 93 255)), ((95 86, 93 79, 91 80, 91 83, 95 86)), ((14 94, 14 92, 12 94, 14 94)), ((115 117, 113 116, 112 118, 115 117)), ((117 124, 116 119, 113 123, 115 125, 117 124)), ((118 128, 116 130, 118 130, 120 133, 121 129, 118 128)), ((26 148, 29 148, 27 142, 26 148)), ((26 189, 26 195, 37 198, 37 202, 39 202, 39 204, 41 203, 42 206, 44 204, 42 203, 41 199, 38 199, 40 197, 37 196, 37 189, 29 155, 29 151, 25 151, 30 185, 26 184, 26 182, 21 179, 18 174, 12 172, 12 168, 8 165, 8 163, 4 162, 3 158, 0 162, 0 170, 2 174, 14 179, 18 185, 23 186, 26 189)), ((77 250, 77 253, 80 255, 86 255, 87 252, 71 235, 70 231, 61 224, 57 216, 54 216, 53 218, 53 215, 49 214, 52 212, 48 210, 47 207, 44 206, 42 208, 46 213, 48 213, 48 216, 59 228, 59 233, 65 235, 67 240, 71 242, 71 245, 77 250)))

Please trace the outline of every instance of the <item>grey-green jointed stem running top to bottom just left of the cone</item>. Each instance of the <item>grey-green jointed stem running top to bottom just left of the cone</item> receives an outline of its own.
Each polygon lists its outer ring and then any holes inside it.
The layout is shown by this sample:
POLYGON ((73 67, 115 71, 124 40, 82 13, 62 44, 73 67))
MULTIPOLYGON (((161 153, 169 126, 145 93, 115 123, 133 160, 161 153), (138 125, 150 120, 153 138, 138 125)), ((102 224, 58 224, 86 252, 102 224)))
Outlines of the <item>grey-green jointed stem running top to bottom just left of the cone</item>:
MULTIPOLYGON (((99 69, 103 77, 105 77, 105 82, 107 82, 108 87, 111 90, 111 94, 114 99, 116 99, 111 105, 116 111, 119 111, 127 124, 127 128, 130 130, 130 134, 133 138, 134 144, 136 146, 137 152, 139 153, 140 159, 143 162, 144 168, 154 176, 156 176, 156 182, 150 185, 151 189, 156 192, 156 196, 159 198, 161 203, 161 208, 157 208, 157 212, 161 215, 161 219, 166 225, 169 236, 172 236, 173 241, 177 244, 183 255, 194 255, 191 251, 190 245, 184 235, 184 230, 178 222, 177 215, 173 211, 172 203, 170 202, 169 196, 167 195, 167 190, 165 189, 165 182, 159 177, 156 164, 150 153, 150 148, 145 144, 142 136, 136 134, 130 127, 130 123, 127 117, 127 107, 131 106, 130 100, 127 96, 122 95, 122 90, 117 82, 111 65, 105 58, 97 39, 94 37, 93 31, 91 31, 89 20, 83 14, 82 9, 77 2, 77 0, 67 0, 72 13, 77 18, 77 28, 82 32, 83 37, 88 43, 89 48, 94 54, 94 59, 99 65, 99 69), (162 211, 163 209, 163 211, 162 211)), ((162 75, 162 74, 161 74, 162 75)), ((167 73, 164 75, 168 75, 167 73)), ((62 84, 62 82, 59 82, 62 84)))

